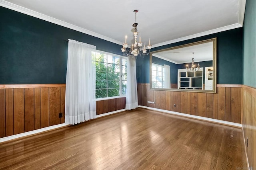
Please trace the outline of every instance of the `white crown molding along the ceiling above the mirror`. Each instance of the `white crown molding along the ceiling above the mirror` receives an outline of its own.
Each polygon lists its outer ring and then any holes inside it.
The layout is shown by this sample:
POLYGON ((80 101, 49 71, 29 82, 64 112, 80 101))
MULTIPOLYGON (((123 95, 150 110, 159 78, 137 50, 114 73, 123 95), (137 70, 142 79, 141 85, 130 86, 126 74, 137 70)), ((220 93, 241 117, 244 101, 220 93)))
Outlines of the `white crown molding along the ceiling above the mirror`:
POLYGON ((177 42, 180 42, 180 41, 185 41, 185 40, 193 39, 193 38, 197 38, 197 37, 202 37, 204 35, 210 35, 210 34, 213 34, 213 33, 218 33, 218 32, 222 32, 222 31, 226 31, 226 30, 230 30, 230 29, 235 29, 235 28, 239 28, 239 27, 242 27, 242 25, 240 23, 234 23, 232 25, 212 29, 212 30, 209 30, 209 31, 204 31, 202 33, 188 35, 186 37, 181 37, 181 38, 173 39, 173 40, 166 41, 166 42, 163 42, 163 43, 158 43, 158 44, 153 45, 152 48, 160 47, 160 46, 168 45, 168 44, 172 44, 172 43, 177 43, 177 42))

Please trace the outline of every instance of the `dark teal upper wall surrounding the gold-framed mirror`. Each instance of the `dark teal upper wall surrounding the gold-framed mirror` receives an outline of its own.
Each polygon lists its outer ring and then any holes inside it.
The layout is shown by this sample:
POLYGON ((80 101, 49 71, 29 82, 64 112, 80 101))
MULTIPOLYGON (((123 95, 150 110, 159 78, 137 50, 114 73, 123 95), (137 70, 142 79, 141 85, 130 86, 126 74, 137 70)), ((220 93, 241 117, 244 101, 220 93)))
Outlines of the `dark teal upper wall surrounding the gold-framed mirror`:
MULTIPOLYGON (((242 84, 243 66, 243 28, 231 29, 186 41, 180 41, 156 48, 151 51, 184 45, 217 37, 217 84, 242 84)), ((256 49, 256 48, 254 48, 256 49)), ((149 83, 149 55, 136 60, 138 83, 149 83)))

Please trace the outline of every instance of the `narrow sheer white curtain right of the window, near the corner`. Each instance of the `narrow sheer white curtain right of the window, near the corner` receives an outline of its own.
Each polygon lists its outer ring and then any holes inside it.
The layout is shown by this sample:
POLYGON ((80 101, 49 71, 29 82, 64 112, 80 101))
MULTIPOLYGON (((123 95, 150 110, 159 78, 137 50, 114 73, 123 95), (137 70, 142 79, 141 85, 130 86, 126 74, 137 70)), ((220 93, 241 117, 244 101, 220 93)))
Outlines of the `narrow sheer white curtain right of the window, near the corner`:
POLYGON ((130 110, 135 109, 136 107, 138 107, 136 59, 132 59, 132 57, 127 57, 127 84, 125 108, 130 110))

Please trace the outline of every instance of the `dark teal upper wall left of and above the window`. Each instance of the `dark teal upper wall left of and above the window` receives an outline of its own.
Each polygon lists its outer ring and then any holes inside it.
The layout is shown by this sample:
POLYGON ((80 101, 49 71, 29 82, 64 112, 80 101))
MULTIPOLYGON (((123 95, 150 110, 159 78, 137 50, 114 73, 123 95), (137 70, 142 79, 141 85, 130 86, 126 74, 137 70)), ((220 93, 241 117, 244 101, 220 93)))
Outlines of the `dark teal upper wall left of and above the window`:
POLYGON ((67 39, 122 55, 121 45, 0 7, 0 84, 66 83, 67 39))

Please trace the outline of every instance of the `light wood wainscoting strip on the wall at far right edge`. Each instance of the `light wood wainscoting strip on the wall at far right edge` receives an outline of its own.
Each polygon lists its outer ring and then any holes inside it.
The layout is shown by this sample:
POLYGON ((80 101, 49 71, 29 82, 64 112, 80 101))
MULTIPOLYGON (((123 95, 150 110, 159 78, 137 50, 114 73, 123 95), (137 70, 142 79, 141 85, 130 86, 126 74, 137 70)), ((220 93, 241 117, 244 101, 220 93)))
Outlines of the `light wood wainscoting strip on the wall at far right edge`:
POLYGON ((256 88, 242 86, 242 124, 249 166, 256 169, 256 88), (247 144, 248 139, 248 144, 247 144))

